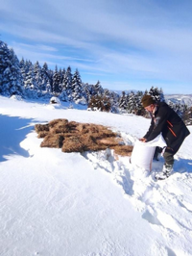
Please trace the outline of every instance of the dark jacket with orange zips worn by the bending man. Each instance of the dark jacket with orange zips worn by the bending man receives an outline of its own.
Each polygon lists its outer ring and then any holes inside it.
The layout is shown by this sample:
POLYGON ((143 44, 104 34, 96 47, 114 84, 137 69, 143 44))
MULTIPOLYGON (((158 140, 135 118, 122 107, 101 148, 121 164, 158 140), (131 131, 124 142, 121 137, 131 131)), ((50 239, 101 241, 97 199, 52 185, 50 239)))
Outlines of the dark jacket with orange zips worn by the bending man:
POLYGON ((174 154, 179 150, 185 137, 190 134, 180 116, 165 102, 157 104, 156 112, 152 115, 151 126, 144 138, 147 141, 153 141, 160 133, 167 143, 166 151, 174 154))

